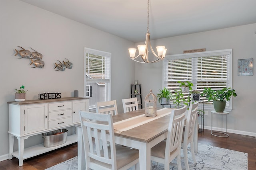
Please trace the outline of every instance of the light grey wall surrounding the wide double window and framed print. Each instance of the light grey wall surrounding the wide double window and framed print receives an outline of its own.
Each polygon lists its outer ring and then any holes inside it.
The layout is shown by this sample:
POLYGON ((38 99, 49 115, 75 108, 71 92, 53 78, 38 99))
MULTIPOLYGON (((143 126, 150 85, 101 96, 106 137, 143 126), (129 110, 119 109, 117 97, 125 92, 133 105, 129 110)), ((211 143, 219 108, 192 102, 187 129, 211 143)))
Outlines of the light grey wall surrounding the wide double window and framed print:
MULTIPOLYGON (((154 47, 165 45, 167 55, 181 54, 184 50, 206 48, 206 51, 233 49, 232 84, 238 96, 233 98, 233 109, 228 115, 230 133, 256 136, 255 69, 253 76, 238 76, 238 59, 254 59, 256 63, 256 23, 215 31, 206 31, 152 41, 154 47)), ((138 43, 139 44, 139 43, 138 43)), ((142 84, 142 97, 152 89, 156 94, 162 88, 162 62, 136 63, 135 78, 142 84)), ((204 126, 211 127, 211 110, 204 117, 204 126)), ((216 116, 216 115, 215 115, 216 116)), ((213 118, 214 127, 221 127, 221 116, 213 118)), ((225 127, 225 124, 224 124, 225 127)))

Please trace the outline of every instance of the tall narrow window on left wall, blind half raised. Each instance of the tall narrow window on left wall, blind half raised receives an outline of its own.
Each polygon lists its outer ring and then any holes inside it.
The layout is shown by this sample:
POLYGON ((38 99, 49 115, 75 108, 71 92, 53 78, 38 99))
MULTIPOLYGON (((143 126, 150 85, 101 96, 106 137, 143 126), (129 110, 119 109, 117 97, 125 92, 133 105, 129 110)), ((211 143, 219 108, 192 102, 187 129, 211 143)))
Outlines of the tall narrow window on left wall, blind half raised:
POLYGON ((90 97, 89 109, 96 102, 110 100, 111 53, 85 48, 84 96, 90 97))

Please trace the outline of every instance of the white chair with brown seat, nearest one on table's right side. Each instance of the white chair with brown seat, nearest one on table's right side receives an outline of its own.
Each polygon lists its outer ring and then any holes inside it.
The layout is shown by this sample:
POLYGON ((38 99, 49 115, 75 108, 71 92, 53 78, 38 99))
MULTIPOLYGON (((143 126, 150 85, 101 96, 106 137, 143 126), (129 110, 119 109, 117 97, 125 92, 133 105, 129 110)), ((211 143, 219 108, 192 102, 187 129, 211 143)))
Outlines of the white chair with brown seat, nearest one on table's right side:
POLYGON ((187 106, 173 109, 170 115, 166 140, 151 148, 151 161, 164 164, 164 169, 170 168, 170 162, 177 158, 178 170, 181 170, 181 139, 187 106))

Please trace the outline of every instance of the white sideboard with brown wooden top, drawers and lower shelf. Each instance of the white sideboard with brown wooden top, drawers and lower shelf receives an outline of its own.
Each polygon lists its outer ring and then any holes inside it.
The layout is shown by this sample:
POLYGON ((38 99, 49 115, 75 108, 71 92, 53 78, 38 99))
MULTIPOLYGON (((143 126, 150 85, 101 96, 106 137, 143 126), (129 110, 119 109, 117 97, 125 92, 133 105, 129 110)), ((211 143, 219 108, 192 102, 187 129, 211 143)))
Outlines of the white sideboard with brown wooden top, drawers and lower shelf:
POLYGON ((48 100, 26 100, 9 104, 9 159, 15 156, 19 166, 23 160, 77 142, 77 135, 68 135, 66 143, 56 147, 44 147, 43 143, 24 149, 30 136, 71 127, 80 123, 79 110, 89 111, 88 99, 70 97, 48 100), (14 137, 18 150, 13 152, 14 137))

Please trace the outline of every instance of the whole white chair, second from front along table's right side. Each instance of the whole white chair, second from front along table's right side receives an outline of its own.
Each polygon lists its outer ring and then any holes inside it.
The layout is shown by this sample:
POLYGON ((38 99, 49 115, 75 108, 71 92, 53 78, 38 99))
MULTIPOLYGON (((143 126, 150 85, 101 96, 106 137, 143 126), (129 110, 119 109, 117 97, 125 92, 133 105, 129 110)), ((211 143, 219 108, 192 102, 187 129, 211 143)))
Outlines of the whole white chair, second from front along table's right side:
POLYGON ((186 170, 189 170, 188 166, 188 144, 190 144, 190 150, 192 154, 192 158, 194 163, 196 163, 196 155, 194 152, 194 127, 197 119, 197 108, 198 108, 198 102, 194 104, 190 104, 190 107, 188 109, 187 119, 186 119, 186 126, 184 135, 182 136, 182 144, 181 147, 183 147, 183 153, 184 153, 184 163, 186 170))

